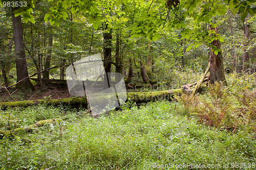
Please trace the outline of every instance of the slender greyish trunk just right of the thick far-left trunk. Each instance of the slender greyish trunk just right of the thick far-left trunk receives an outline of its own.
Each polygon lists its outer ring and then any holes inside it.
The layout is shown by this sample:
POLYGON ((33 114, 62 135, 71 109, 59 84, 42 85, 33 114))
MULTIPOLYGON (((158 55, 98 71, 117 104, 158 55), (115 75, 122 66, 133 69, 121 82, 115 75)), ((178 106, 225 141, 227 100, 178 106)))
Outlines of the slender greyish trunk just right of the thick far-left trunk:
MULTIPOLYGON (((52 58, 52 44, 53 44, 53 38, 52 38, 52 26, 49 26, 49 38, 48 38, 48 51, 46 56, 46 63, 45 63, 45 69, 51 67, 51 58, 52 58)), ((50 78, 50 70, 45 72, 44 75, 45 79, 50 78)))

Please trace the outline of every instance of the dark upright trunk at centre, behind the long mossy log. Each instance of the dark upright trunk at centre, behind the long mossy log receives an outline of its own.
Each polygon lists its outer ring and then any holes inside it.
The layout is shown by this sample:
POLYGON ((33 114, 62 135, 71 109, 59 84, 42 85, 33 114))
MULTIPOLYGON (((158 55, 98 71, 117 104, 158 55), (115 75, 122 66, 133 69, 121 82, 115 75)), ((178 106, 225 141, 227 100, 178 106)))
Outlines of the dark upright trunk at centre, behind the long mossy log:
MULTIPOLYGON (((105 26, 105 32, 103 33, 104 38, 104 60, 112 60, 111 51, 112 51, 112 30, 108 30, 108 25, 105 26)), ((108 61, 104 61, 103 63, 106 74, 104 75, 104 88, 108 88, 109 82, 111 80, 108 80, 110 76, 108 75, 108 72, 111 72, 111 63, 108 61)))

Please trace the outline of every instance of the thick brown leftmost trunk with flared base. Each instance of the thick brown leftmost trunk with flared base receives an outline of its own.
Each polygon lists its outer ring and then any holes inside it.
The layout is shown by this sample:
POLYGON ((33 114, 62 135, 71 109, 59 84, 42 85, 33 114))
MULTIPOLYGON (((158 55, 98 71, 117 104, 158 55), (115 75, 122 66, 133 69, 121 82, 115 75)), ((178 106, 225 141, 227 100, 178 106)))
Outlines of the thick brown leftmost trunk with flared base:
MULTIPOLYGON (((16 71, 17 71, 17 82, 28 77, 27 61, 25 56, 24 42, 23 42, 23 29, 22 29, 22 18, 21 16, 15 17, 13 11, 18 10, 18 8, 12 8, 12 28, 14 34, 14 46, 17 55, 16 59, 16 71)), ((31 83, 30 79, 25 79, 24 81, 16 85, 17 89, 35 90, 35 87, 31 83)))

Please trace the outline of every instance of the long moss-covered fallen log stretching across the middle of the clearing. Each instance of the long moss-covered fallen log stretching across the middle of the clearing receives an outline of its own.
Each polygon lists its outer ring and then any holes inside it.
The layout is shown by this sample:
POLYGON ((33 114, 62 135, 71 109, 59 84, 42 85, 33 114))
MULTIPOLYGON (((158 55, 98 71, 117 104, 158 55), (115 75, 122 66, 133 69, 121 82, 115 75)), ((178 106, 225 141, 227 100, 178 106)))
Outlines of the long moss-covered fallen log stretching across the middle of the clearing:
MULTIPOLYGON (((205 86, 201 86, 198 91, 201 91, 205 86)), ((136 103, 146 103, 150 101, 157 101, 160 99, 172 100, 175 95, 181 95, 191 91, 190 87, 188 89, 180 88, 173 90, 163 90, 163 91, 153 91, 153 92, 128 92, 127 100, 132 100, 136 103)), ((100 96, 99 100, 105 101, 108 100, 109 96, 100 96)), ((88 102, 87 98, 66 98, 66 99, 48 99, 48 100, 34 100, 34 101, 18 101, 18 102, 2 102, 0 103, 0 107, 2 109, 6 109, 8 107, 29 107, 38 104, 46 104, 53 106, 69 106, 72 108, 87 108, 88 102)))

